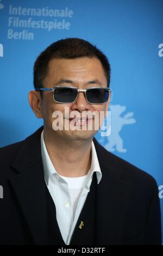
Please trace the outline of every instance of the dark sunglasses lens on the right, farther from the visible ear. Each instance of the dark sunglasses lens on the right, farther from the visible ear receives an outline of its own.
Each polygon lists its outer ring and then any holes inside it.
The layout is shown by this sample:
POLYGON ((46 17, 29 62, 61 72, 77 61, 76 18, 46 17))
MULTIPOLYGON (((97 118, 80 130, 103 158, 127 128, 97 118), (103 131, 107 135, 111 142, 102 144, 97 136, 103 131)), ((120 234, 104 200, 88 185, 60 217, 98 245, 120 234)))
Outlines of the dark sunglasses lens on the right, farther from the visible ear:
POLYGON ((86 91, 86 98, 92 104, 104 103, 108 100, 109 90, 106 88, 92 88, 86 91))

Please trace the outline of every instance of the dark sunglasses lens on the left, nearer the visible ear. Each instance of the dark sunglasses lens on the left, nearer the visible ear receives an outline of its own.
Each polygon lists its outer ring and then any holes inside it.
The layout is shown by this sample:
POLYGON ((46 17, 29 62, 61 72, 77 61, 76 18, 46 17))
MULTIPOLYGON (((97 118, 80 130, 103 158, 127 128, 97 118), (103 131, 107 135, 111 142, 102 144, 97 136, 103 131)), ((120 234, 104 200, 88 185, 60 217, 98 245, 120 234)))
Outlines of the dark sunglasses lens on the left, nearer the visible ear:
POLYGON ((73 88, 59 87, 54 90, 54 100, 61 103, 71 103, 77 97, 78 91, 73 88))

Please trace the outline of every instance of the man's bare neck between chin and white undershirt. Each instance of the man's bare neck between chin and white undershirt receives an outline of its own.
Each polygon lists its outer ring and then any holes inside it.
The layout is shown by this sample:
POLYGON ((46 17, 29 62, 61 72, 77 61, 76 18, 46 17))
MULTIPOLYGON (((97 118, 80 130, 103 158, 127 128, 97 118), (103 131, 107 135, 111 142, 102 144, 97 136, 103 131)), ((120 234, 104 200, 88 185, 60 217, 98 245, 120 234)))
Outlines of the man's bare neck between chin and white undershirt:
POLYGON ((64 141, 43 132, 48 155, 57 173, 66 177, 84 176, 91 167, 91 143, 89 140, 64 141))

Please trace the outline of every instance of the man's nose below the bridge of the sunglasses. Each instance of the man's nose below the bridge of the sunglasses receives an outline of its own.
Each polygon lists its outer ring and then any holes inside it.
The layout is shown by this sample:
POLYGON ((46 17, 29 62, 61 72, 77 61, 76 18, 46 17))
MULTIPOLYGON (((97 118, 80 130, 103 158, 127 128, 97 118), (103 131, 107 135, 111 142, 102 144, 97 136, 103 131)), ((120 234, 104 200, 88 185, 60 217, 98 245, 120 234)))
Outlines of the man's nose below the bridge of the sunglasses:
POLYGON ((71 105, 72 110, 79 112, 89 110, 91 105, 86 101, 85 94, 83 92, 78 93, 78 97, 74 103, 71 105))

